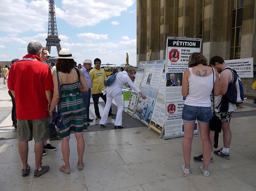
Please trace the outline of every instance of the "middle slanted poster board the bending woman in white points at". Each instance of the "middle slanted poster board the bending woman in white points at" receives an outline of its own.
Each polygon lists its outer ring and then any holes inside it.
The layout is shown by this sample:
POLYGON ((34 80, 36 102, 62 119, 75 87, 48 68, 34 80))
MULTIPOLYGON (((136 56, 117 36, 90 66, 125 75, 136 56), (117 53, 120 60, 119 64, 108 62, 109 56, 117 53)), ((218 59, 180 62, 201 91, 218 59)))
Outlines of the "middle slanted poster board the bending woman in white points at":
POLYGON ((147 97, 139 98, 134 117, 149 125, 161 82, 161 76, 165 65, 164 60, 147 61, 144 78, 141 83, 141 92, 147 97))

